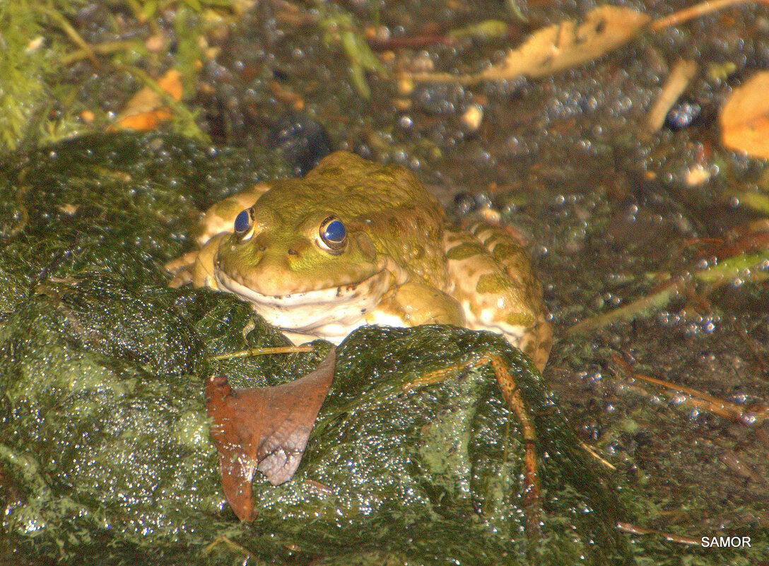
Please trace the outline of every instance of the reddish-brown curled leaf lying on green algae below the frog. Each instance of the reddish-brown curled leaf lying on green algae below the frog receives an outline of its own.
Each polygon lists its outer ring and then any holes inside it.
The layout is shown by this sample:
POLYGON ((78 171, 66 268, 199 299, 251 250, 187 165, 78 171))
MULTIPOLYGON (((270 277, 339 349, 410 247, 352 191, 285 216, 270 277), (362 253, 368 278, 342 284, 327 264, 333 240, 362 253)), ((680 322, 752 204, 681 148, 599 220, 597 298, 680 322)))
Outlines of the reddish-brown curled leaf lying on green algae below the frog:
POLYGON ((273 485, 291 479, 334 376, 332 349, 311 374, 274 387, 231 388, 214 376, 205 385, 221 484, 241 521, 251 521, 251 480, 261 471, 273 485))

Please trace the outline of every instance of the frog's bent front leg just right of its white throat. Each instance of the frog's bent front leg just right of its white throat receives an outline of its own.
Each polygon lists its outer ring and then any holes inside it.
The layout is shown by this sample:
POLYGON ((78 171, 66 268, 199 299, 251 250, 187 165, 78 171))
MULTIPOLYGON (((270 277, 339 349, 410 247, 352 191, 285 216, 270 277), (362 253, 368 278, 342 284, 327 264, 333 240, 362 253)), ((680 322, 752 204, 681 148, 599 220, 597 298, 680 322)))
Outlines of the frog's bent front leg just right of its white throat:
POLYGON ((408 281, 366 315, 370 325, 464 325, 461 305, 450 295, 418 281, 408 281))

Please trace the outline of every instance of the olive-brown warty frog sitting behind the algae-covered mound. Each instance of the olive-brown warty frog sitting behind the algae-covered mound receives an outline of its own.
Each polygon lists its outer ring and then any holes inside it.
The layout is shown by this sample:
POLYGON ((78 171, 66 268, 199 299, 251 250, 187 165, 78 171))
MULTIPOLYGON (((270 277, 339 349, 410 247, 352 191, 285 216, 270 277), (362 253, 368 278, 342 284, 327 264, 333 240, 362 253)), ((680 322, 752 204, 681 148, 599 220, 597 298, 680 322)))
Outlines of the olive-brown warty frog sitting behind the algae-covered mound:
POLYGON ((362 325, 455 325, 501 334, 541 370, 552 343, 524 242, 458 226, 416 175, 348 151, 304 178, 262 181, 202 215, 172 287, 237 295, 295 344, 339 344, 362 325))

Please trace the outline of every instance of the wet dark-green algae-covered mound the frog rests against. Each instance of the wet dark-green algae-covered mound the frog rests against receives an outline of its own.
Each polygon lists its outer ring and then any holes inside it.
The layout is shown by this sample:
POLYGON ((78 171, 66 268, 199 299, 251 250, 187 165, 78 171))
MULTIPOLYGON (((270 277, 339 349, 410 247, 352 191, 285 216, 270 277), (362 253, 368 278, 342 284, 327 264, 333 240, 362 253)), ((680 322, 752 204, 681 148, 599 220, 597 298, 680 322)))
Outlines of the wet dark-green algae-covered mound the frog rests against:
POLYGON ((199 208, 265 171, 158 135, 69 141, 4 169, 5 550, 78 564, 628 562, 617 501, 528 359, 451 327, 351 335, 297 474, 277 488, 258 475, 255 521, 235 518, 204 380, 275 385, 329 345, 214 361, 285 339, 232 295, 167 288, 161 266, 199 208), (521 424, 491 369, 412 385, 483 354, 511 371, 534 423, 541 534, 527 532, 521 424))

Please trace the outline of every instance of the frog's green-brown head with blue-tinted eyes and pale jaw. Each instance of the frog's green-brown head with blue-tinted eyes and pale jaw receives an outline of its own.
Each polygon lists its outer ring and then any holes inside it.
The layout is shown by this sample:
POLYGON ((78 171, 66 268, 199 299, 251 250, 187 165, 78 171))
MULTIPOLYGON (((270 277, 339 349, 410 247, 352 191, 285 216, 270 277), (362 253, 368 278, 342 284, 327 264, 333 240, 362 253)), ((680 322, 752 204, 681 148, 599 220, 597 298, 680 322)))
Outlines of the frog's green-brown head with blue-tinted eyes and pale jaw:
POLYGON ((322 202, 318 210, 272 204, 267 194, 241 211, 215 258, 220 288, 251 301, 271 324, 345 324, 374 308, 396 282, 398 269, 378 254, 360 221, 322 202))

